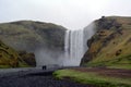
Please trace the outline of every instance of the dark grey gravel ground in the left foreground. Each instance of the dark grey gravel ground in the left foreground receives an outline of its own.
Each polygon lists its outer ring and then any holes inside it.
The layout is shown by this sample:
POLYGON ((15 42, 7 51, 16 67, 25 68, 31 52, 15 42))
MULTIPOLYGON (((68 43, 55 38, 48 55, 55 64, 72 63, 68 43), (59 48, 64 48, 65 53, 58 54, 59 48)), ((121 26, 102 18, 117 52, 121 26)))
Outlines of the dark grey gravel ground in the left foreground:
POLYGON ((93 87, 52 77, 53 70, 26 70, 0 73, 0 87, 93 87))

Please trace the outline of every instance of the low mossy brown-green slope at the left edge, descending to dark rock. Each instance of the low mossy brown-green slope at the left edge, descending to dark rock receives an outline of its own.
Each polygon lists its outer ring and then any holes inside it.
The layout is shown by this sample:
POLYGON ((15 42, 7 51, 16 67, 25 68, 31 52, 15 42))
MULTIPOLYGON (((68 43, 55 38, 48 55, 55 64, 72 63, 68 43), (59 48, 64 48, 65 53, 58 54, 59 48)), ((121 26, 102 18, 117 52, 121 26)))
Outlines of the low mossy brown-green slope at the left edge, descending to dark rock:
POLYGON ((28 66, 11 47, 0 41, 0 69, 28 66))

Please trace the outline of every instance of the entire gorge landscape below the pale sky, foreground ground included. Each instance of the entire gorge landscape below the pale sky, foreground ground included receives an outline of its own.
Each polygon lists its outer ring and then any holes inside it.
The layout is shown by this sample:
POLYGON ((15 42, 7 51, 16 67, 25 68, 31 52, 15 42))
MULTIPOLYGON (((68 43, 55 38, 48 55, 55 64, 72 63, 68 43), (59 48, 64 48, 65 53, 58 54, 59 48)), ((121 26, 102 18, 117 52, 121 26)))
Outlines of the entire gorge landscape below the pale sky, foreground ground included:
POLYGON ((131 17, 102 16, 78 30, 33 21, 3 23, 0 86, 130 87, 130 46, 131 17))

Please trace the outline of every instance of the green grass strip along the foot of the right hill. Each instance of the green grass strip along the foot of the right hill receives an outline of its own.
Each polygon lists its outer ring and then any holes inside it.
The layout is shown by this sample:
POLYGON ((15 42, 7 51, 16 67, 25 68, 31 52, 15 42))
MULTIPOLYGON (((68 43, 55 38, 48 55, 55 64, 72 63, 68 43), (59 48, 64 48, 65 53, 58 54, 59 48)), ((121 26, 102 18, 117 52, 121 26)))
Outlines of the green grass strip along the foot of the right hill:
POLYGON ((95 62, 95 63, 91 61, 88 63, 85 63, 84 65, 91 67, 105 66, 111 69, 131 70, 131 54, 121 55, 120 58, 111 59, 108 61, 95 62))

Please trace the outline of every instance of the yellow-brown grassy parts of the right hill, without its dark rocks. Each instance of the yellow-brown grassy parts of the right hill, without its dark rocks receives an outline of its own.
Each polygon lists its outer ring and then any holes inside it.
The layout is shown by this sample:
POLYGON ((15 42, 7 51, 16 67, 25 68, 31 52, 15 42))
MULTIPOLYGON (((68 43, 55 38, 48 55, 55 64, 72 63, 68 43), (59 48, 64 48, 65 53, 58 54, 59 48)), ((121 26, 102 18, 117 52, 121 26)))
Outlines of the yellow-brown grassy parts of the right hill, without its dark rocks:
POLYGON ((115 27, 103 29, 105 30, 105 36, 99 37, 98 33, 96 33, 94 35, 95 39, 100 39, 92 42, 88 52, 97 52, 97 54, 92 61, 85 62, 84 65, 131 69, 131 18, 116 16, 107 18, 116 18, 117 23, 122 24, 120 27, 122 35, 116 33, 117 28, 115 27), (108 41, 107 46, 103 46, 103 41, 111 34, 115 34, 115 37, 108 41), (100 47, 100 51, 97 51, 100 47), (118 50, 121 50, 121 52, 119 55, 116 55, 118 50))

